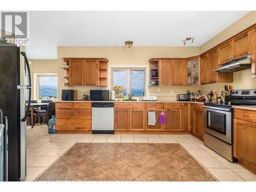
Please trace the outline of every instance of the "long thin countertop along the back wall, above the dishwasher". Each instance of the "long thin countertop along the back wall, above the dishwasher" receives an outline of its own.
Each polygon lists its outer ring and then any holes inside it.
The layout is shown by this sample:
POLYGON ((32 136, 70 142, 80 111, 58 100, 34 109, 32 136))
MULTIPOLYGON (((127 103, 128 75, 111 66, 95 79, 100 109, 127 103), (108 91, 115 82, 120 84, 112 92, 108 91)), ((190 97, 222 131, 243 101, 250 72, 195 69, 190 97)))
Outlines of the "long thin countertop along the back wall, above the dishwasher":
POLYGON ((74 100, 74 101, 56 101, 56 102, 118 102, 118 103, 127 103, 127 102, 134 102, 134 103, 144 103, 144 102, 158 102, 158 103, 177 103, 177 102, 189 102, 189 103, 197 103, 197 104, 204 104, 202 101, 168 101, 168 100, 157 100, 157 101, 83 101, 83 100, 74 100))

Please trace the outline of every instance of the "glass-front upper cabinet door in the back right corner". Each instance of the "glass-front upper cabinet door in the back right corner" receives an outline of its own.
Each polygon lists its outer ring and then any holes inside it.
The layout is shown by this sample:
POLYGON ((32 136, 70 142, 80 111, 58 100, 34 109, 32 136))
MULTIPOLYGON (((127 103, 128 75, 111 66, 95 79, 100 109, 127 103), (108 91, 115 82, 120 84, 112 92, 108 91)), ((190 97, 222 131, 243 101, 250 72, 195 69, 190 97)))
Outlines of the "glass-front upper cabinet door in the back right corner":
POLYGON ((186 60, 186 86, 199 84, 199 57, 186 60))

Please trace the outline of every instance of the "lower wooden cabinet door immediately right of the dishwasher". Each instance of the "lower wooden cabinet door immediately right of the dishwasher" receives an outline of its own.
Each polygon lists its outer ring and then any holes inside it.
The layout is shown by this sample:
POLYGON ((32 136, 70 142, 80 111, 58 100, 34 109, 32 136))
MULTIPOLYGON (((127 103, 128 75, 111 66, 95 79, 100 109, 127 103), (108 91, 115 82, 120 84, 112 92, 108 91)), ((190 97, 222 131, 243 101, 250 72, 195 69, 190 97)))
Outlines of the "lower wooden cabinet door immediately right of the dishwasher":
POLYGON ((115 108, 115 131, 129 131, 130 127, 130 109, 129 108, 115 108))

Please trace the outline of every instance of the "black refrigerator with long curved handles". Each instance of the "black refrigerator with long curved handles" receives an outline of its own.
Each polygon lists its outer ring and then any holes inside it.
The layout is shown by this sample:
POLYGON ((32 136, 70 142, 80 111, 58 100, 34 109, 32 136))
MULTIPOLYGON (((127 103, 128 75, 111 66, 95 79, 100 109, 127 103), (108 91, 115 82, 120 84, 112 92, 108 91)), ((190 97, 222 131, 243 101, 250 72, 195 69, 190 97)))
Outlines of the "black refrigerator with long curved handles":
POLYGON ((31 74, 25 47, 0 45, 0 109, 8 117, 8 181, 27 176, 27 116, 31 101, 31 74))

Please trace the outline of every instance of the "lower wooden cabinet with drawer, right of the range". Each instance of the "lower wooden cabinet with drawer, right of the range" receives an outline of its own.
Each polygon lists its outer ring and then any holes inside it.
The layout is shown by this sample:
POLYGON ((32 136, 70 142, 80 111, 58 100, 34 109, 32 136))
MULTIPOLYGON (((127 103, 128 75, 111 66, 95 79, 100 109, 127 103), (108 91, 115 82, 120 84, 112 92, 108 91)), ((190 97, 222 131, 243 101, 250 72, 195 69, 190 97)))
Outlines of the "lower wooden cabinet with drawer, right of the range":
POLYGON ((233 155, 256 174, 256 111, 234 109, 233 155))

